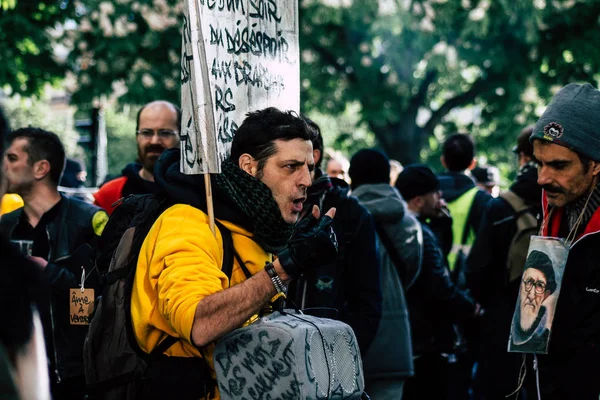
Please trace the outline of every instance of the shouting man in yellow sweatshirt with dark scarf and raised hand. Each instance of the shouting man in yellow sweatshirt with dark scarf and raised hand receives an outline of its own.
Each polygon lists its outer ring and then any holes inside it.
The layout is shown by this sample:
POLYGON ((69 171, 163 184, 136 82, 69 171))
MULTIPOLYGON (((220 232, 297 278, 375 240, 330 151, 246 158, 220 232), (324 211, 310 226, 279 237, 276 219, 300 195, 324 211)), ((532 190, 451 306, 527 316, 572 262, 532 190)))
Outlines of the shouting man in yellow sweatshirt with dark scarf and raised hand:
POLYGON ((204 396, 210 376, 198 370, 191 374, 194 379, 182 379, 190 371, 178 367, 177 359, 206 356, 212 363, 211 344, 283 292, 282 282, 335 259, 330 228, 335 209, 319 219, 315 206, 311 217, 294 226, 311 184, 313 135, 293 112, 268 108, 249 113, 222 173, 211 175, 215 216, 231 231, 239 256, 231 279, 221 271, 221 232, 215 236, 209 228, 203 177, 179 172, 177 149, 159 159, 155 181, 175 205, 156 220, 142 245, 131 314, 145 352, 168 336, 180 340, 165 351, 170 357, 152 363, 150 368, 158 371, 151 375, 160 379, 143 382, 143 398, 204 396))

